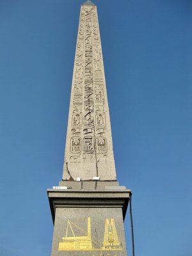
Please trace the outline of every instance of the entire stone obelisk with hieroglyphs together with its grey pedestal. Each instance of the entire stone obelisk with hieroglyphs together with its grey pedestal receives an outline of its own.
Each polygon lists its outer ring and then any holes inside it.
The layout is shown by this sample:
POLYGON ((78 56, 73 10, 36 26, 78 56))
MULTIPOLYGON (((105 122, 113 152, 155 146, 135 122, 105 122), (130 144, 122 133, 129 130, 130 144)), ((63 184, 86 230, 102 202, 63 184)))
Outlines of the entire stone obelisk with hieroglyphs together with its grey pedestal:
POLYGON ((97 7, 81 6, 63 179, 47 190, 52 256, 123 256, 131 191, 116 181, 97 7))

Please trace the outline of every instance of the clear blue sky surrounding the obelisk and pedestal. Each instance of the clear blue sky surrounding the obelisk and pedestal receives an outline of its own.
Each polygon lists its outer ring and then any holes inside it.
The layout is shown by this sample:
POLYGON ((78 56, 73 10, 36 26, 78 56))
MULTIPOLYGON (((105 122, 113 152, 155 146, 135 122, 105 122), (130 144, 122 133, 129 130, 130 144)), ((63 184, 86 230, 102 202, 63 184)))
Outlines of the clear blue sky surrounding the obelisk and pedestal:
MULTIPOLYGON (((0 1, 0 255, 51 255, 80 0, 0 1)), ((95 0, 137 256, 192 255, 192 2, 95 0)), ((125 221, 131 256, 129 212, 125 221)))

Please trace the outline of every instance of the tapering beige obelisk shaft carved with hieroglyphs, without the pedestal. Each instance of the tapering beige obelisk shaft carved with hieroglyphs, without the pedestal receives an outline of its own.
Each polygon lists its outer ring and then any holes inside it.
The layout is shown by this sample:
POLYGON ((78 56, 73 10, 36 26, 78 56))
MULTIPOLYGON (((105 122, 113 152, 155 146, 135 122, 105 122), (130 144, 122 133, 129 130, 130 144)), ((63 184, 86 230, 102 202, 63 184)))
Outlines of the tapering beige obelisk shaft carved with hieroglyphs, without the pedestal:
POLYGON ((63 180, 116 180, 108 98, 95 5, 82 5, 63 180))

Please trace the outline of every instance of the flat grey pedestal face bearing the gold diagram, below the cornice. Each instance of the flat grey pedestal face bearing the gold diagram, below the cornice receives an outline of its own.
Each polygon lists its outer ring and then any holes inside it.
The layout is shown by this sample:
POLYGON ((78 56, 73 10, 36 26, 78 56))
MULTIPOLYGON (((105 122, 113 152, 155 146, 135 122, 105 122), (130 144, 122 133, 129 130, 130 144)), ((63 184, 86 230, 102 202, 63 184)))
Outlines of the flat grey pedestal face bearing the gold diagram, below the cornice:
POLYGON ((126 255, 121 209, 57 208, 52 255, 126 255))

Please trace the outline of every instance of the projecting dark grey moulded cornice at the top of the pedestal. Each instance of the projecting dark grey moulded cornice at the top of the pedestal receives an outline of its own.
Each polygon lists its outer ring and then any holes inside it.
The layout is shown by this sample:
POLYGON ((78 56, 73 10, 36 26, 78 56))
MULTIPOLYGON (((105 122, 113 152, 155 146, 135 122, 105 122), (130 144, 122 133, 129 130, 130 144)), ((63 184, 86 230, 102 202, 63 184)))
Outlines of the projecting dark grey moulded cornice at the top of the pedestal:
POLYGON ((47 189, 53 223, 57 207, 122 208, 125 218, 130 193, 129 189, 47 189))

